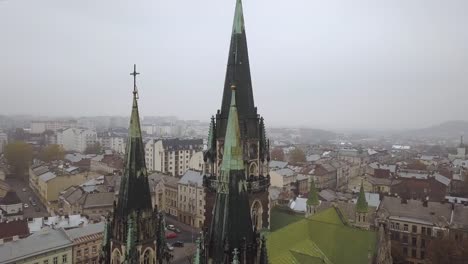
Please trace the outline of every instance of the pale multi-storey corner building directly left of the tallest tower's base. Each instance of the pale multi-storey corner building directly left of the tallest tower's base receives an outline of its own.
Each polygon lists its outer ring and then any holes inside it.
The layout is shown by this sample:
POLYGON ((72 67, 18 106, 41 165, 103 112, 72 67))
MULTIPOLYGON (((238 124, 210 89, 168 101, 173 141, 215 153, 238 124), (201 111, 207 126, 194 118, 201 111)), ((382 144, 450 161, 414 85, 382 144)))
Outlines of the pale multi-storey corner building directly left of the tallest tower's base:
POLYGON ((205 191, 203 174, 188 170, 178 184, 178 217, 179 221, 202 228, 205 221, 205 191))

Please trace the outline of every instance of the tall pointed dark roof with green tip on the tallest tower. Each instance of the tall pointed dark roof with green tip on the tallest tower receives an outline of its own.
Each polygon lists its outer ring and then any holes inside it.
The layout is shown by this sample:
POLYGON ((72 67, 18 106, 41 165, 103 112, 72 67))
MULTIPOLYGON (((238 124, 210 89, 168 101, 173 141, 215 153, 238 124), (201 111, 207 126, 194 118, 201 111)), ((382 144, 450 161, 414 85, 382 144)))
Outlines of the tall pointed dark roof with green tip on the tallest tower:
POLYGON ((229 50, 226 80, 224 83, 223 101, 221 105, 221 117, 227 118, 229 102, 231 101, 231 84, 235 83, 238 93, 239 116, 256 116, 252 81, 250 78, 249 55, 247 50, 247 37, 245 33, 244 14, 242 1, 237 0, 236 11, 232 26, 231 45, 229 50))

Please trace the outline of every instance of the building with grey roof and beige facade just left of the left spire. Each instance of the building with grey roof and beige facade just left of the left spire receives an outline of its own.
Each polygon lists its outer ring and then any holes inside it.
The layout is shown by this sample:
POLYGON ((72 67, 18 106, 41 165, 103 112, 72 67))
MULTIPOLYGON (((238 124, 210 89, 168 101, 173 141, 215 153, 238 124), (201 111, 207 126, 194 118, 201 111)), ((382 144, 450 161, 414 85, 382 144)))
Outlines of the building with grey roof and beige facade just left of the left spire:
POLYGON ((74 264, 98 264, 104 237, 104 222, 65 231, 73 241, 74 264))

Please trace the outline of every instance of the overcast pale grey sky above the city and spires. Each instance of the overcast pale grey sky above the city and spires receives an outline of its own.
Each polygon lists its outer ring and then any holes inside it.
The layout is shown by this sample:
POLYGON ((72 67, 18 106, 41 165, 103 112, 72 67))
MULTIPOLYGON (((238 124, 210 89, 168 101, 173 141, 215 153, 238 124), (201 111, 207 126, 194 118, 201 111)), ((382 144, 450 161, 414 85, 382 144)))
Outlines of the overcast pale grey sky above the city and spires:
MULTIPOLYGON (((468 119, 468 1, 244 0, 267 124, 413 128, 468 119)), ((0 0, 0 114, 208 121, 235 0, 0 0)))

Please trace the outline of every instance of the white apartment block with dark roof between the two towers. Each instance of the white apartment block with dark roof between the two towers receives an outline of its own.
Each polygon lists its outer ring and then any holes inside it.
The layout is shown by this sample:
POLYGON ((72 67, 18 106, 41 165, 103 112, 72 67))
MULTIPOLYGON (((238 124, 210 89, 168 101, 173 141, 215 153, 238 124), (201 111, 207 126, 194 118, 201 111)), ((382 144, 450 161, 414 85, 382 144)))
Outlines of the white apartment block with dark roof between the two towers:
POLYGON ((202 139, 153 139, 145 145, 146 166, 150 171, 182 177, 192 156, 202 150, 202 139))

